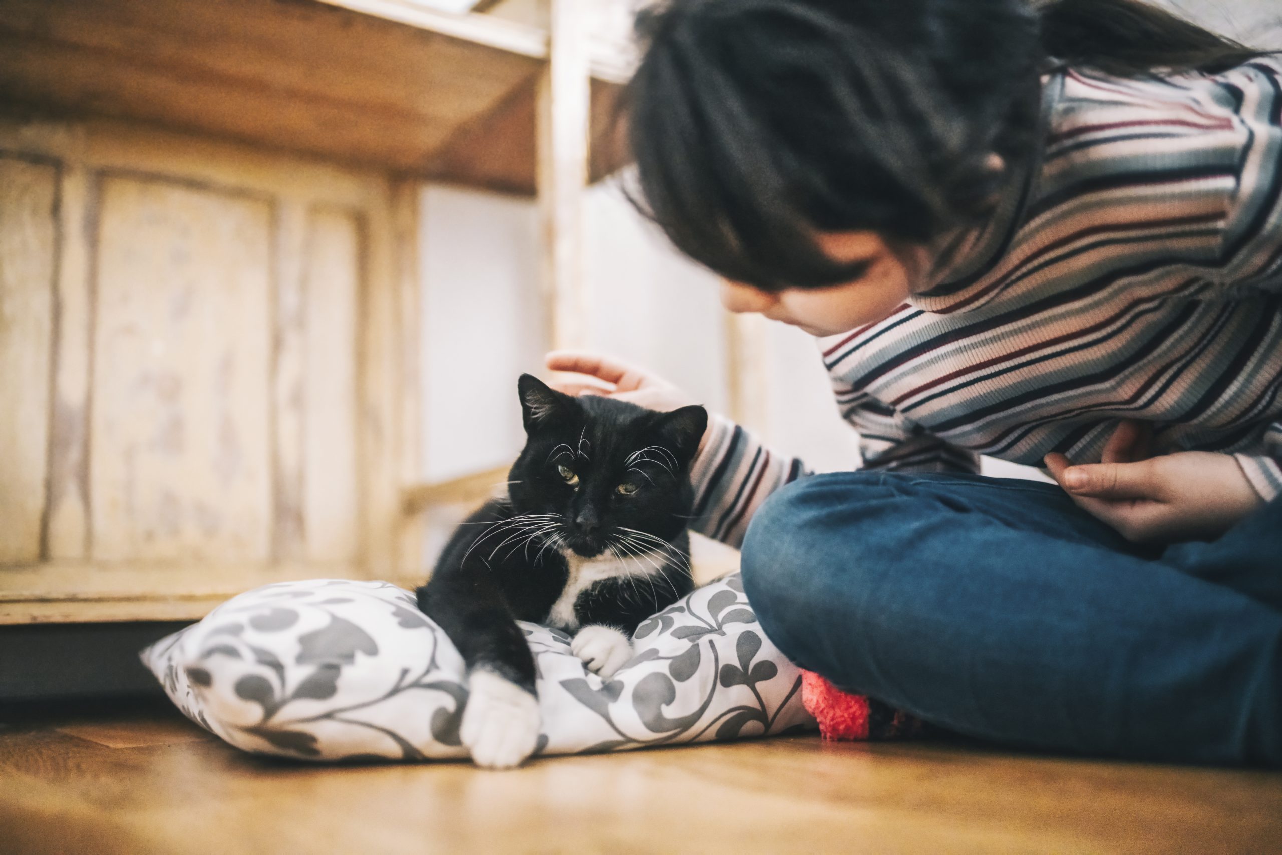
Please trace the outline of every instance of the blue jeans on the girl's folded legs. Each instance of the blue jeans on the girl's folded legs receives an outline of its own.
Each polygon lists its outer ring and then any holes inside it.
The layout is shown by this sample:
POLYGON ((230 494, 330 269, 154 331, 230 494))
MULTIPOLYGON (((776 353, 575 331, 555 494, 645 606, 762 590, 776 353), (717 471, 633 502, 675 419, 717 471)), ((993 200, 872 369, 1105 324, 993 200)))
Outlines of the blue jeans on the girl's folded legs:
POLYGON ((742 569, 797 664, 951 731, 1282 765, 1282 500, 1161 549, 1051 485, 815 476, 758 510, 742 569))

